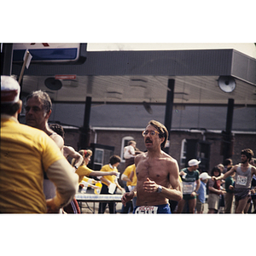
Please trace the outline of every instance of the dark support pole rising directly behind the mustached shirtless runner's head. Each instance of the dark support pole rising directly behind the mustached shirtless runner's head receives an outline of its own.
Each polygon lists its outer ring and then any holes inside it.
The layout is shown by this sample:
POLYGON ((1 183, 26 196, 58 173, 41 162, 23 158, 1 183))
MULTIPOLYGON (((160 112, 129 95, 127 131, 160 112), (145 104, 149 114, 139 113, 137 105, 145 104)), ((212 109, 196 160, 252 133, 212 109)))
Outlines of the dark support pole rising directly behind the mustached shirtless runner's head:
POLYGON ((166 117, 165 117, 165 126, 167 131, 169 132, 168 136, 168 144, 166 148, 163 148, 163 150, 166 152, 166 154, 169 154, 169 148, 170 148, 170 133, 172 129, 172 108, 173 108, 173 98, 174 98, 174 84, 175 79, 168 79, 168 90, 167 90, 167 96, 166 96, 166 117))

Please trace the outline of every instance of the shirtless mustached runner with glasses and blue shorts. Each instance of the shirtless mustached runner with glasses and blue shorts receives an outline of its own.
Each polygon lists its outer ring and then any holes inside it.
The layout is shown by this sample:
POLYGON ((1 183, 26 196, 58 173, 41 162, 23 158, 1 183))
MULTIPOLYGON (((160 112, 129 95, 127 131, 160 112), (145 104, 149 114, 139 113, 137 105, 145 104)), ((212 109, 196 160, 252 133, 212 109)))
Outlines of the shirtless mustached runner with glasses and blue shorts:
POLYGON ((165 125, 151 120, 143 137, 148 152, 135 158, 137 186, 122 196, 122 203, 125 205, 137 195, 134 213, 172 213, 168 201, 180 201, 183 194, 177 160, 161 150, 166 145, 168 131, 165 125))

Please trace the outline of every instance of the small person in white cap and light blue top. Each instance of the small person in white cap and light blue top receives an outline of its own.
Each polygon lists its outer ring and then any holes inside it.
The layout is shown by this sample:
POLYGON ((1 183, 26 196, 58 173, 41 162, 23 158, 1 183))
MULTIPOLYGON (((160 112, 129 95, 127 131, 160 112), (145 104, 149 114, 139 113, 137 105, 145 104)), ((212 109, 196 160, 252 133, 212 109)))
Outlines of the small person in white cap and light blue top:
POLYGON ((196 212, 203 213, 207 196, 207 182, 208 179, 212 177, 207 172, 202 172, 199 175, 199 178, 201 179, 201 182, 196 196, 196 212))

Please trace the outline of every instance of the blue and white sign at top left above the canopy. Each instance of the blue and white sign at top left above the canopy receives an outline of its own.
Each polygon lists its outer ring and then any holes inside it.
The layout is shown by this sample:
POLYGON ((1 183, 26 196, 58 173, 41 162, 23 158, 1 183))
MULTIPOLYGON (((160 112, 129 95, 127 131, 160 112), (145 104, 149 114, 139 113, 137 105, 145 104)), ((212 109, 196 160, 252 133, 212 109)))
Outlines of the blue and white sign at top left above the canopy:
POLYGON ((87 44, 31 43, 13 44, 13 61, 23 61, 28 49, 32 62, 82 62, 86 60, 87 44))

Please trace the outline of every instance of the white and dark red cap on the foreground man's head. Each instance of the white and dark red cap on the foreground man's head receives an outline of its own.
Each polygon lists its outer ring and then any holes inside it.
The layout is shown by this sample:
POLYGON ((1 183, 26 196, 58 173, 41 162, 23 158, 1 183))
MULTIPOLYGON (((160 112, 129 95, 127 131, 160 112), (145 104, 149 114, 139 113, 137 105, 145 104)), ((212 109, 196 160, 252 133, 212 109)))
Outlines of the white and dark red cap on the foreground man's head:
POLYGON ((1 76, 1 104, 19 102, 20 84, 9 76, 1 76))

